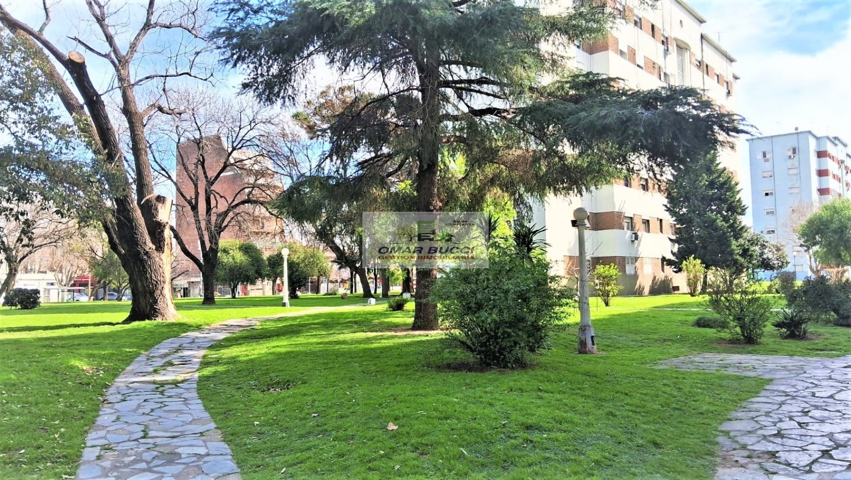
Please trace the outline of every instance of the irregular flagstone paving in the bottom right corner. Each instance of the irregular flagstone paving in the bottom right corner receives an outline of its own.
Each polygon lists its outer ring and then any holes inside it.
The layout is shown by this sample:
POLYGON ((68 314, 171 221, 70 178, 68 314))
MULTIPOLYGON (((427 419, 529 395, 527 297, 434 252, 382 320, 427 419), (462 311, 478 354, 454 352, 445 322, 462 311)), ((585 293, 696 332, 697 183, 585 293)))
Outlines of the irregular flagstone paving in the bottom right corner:
POLYGON ((774 379, 719 427, 717 480, 851 479, 851 355, 705 353, 666 367, 774 379))

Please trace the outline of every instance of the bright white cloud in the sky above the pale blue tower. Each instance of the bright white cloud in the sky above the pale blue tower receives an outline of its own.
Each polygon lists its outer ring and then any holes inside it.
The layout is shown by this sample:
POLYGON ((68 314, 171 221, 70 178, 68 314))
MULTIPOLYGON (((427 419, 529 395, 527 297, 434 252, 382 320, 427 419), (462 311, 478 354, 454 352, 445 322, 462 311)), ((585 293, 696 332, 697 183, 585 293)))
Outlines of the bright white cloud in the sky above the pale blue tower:
MULTIPOLYGON (((793 9, 791 2, 705 0, 694 6, 708 20, 705 33, 717 38, 720 32, 722 46, 739 60, 734 66, 741 77, 738 113, 759 130, 758 135, 787 133, 797 127, 851 141, 851 28, 847 18, 828 20, 827 15, 836 9, 803 11, 793 9), (822 31, 807 31, 818 28, 820 22, 822 31), (822 45, 830 46, 812 54, 801 52, 814 48, 816 42, 789 48, 789 37, 807 42, 818 35, 822 45), (834 42, 824 42, 825 36, 835 37, 834 42)), ((742 193, 750 204, 745 140, 740 141, 739 151, 742 193)))

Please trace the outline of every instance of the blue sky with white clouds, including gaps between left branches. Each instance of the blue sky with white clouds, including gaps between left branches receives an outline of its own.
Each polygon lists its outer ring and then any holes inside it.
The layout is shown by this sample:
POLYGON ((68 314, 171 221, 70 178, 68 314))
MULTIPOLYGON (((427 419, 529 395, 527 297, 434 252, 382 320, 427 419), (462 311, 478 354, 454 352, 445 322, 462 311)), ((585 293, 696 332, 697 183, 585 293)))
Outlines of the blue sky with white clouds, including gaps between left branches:
MULTIPOLYGON (((42 20, 38 0, 0 0, 13 14, 31 23, 42 20)), ((167 4, 168 0, 161 0, 167 4)), ((92 26, 83 0, 54 0, 48 33, 61 38, 88 37, 92 26)), ((121 15, 134 20, 144 12, 142 0, 129 0, 121 15)), ((813 130, 851 141, 851 0, 691 0, 707 23, 704 32, 717 39, 738 60, 734 70, 738 113, 758 134, 813 130)), ((117 3, 112 3, 116 5, 117 3)), ((93 68, 94 65, 93 65, 93 68)), ((317 72, 318 84, 331 81, 329 71, 317 72)), ((106 72, 105 72, 106 73, 106 72)), ((218 87, 236 94, 239 74, 223 71, 218 87)), ((108 82, 106 75, 102 80, 108 82)), ((747 144, 741 141, 744 197, 750 203, 747 144)))

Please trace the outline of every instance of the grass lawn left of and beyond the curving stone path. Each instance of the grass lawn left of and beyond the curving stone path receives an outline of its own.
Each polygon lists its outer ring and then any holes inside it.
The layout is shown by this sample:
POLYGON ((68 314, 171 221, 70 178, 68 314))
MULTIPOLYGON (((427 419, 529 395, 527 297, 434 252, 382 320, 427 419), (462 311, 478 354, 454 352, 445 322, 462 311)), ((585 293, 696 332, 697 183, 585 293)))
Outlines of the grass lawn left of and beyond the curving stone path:
MULTIPOLYGON (((357 304, 363 299, 305 295, 290 311, 357 304)), ((280 297, 175 302, 177 322, 121 325, 129 302, 44 304, 0 309, 0 478, 61 478, 77 469, 100 395, 142 351, 228 318, 283 311, 280 297)))

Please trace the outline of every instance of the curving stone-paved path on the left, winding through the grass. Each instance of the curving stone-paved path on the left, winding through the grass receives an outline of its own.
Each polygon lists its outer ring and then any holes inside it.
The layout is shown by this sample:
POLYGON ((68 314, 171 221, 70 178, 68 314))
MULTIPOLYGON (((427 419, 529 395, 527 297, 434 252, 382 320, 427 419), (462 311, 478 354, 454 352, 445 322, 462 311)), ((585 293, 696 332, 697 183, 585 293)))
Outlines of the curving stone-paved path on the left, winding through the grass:
POLYGON ((136 358, 106 391, 77 478, 240 478, 231 449, 198 398, 197 370, 208 346, 258 322, 217 323, 136 358))

